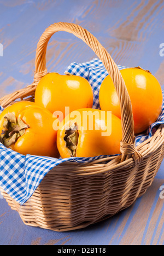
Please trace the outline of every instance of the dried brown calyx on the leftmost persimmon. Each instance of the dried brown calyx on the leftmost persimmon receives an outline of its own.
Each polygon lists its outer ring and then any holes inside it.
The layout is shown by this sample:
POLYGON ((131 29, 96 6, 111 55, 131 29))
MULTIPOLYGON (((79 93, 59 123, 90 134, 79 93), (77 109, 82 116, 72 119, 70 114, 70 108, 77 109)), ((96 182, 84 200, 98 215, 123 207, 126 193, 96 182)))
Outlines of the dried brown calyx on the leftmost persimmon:
POLYGON ((29 126, 24 123, 20 118, 17 118, 13 113, 8 113, 4 117, 4 123, 0 142, 5 146, 9 147, 14 144, 19 137, 24 135, 25 131, 29 126))

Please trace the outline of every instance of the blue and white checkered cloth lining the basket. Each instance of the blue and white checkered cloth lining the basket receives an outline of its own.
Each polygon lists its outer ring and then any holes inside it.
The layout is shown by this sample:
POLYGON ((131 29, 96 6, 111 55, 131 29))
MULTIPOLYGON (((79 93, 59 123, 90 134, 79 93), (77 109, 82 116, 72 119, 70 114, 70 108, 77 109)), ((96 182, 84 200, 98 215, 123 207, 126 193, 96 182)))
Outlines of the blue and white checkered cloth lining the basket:
MULTIPOLYGON (((126 67, 119 66, 119 69, 126 67)), ((99 108, 99 87, 103 79, 108 75, 103 63, 93 59, 85 63, 71 63, 67 72, 86 78, 93 89, 93 108, 99 108)), ((164 95, 164 94, 163 94, 164 95)), ((0 106, 0 113, 3 108, 0 106)), ((159 119, 152 124, 145 134, 136 137, 136 146, 153 136, 153 130, 159 124, 164 124, 164 96, 163 106, 159 119)), ((0 143, 0 187, 15 201, 23 205, 34 193, 46 173, 62 162, 91 162, 106 158, 109 155, 96 156, 94 158, 68 158, 55 159, 45 156, 21 155, 8 149, 0 143)))

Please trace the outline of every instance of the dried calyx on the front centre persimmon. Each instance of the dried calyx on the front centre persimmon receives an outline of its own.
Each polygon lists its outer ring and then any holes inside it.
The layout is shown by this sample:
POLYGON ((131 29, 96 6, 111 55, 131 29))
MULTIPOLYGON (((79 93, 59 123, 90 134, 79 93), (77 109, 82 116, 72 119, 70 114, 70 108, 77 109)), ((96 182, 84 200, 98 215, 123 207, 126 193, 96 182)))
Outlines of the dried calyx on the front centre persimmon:
POLYGON ((79 133, 76 125, 73 127, 73 129, 70 128, 68 131, 65 131, 65 137, 63 139, 66 142, 66 147, 71 157, 76 156, 78 138, 79 138, 79 133))

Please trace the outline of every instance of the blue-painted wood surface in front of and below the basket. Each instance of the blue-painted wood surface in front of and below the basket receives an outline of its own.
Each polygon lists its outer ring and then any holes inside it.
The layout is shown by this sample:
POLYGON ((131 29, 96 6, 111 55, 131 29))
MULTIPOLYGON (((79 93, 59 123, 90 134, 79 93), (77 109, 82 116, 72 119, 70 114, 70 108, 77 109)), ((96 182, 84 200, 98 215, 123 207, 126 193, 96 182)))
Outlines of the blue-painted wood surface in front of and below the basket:
POLYGON ((71 232, 54 232, 25 226, 19 214, 1 199, 1 245, 163 245, 163 199, 155 179, 147 193, 133 206, 111 219, 71 232), (5 230, 5 232, 4 232, 5 230))

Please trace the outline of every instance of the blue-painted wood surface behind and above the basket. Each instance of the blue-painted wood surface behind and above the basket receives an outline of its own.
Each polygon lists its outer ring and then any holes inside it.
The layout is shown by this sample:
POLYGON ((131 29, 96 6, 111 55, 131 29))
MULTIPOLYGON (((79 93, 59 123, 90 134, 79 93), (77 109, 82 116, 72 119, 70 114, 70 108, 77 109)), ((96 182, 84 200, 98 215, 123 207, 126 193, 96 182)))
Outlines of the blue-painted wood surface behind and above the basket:
MULTIPOLYGON (((19 83, 31 84, 36 46, 42 32, 58 21, 75 22, 87 28, 112 55, 127 67, 142 66, 159 78, 159 45, 163 42, 163 1, 0 1, 2 96, 19 83), (12 3, 12 4, 11 4, 12 3), (123 10, 123 11, 122 11, 123 10), (12 15, 11 15, 12 14, 12 15), (10 84, 8 78, 13 77, 10 84)), ((95 55, 79 39, 60 33, 51 39, 47 59, 50 72, 63 73, 70 62, 86 61, 95 55)), ((159 74, 160 73, 160 74, 159 74)), ((21 84, 21 85, 20 85, 21 84)))

